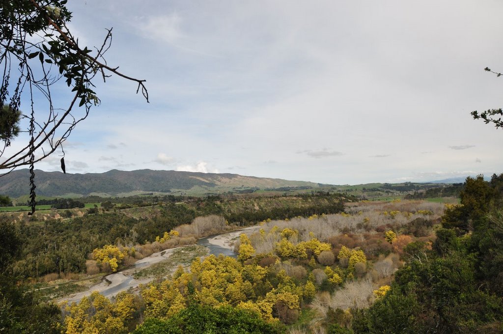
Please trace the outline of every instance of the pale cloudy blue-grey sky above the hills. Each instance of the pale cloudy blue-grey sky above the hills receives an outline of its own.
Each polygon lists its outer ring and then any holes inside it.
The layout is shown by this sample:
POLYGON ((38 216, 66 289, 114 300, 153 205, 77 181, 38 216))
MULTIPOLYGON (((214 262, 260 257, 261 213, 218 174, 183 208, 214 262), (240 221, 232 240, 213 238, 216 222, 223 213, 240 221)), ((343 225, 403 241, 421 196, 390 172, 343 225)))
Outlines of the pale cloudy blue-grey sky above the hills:
MULTIPOLYGON (((119 77, 64 143, 67 173, 178 170, 327 184, 503 173, 501 1, 72 1, 119 77)), ((97 78, 98 79, 98 78, 97 78)), ((58 96, 64 100, 64 93, 58 96)), ((36 165, 58 171, 60 156, 36 165)))

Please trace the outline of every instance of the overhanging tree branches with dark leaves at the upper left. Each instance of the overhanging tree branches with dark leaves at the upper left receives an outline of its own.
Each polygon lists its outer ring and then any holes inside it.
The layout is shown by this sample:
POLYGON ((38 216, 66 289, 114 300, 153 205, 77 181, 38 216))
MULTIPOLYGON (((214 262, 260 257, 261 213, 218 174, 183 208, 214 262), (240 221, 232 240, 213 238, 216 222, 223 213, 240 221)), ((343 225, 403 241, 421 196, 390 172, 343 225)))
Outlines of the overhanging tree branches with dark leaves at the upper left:
MULTIPOLYGON (((145 80, 135 79, 107 64, 104 54, 110 48, 112 29, 99 47, 81 47, 67 23, 72 13, 67 0, 7 0, 0 13, 0 169, 10 170, 27 165, 30 168, 30 198, 35 210, 34 164, 61 149, 75 126, 86 119, 92 106, 100 104, 94 91, 95 76, 106 80, 119 75, 138 84, 148 102, 145 80), (66 85, 69 99, 56 105, 51 89, 66 85), (41 104, 39 98, 45 98, 41 104), (37 101, 37 105, 35 105, 37 101), (25 112, 21 111, 21 105, 25 112), (20 121, 28 121, 21 130, 20 121), (23 145, 13 149, 11 140, 25 133, 23 145), (21 147, 21 148, 19 148, 21 147)), ((9 173, 9 172, 7 172, 9 173)), ((5 174, 4 174, 5 175, 5 174)))

